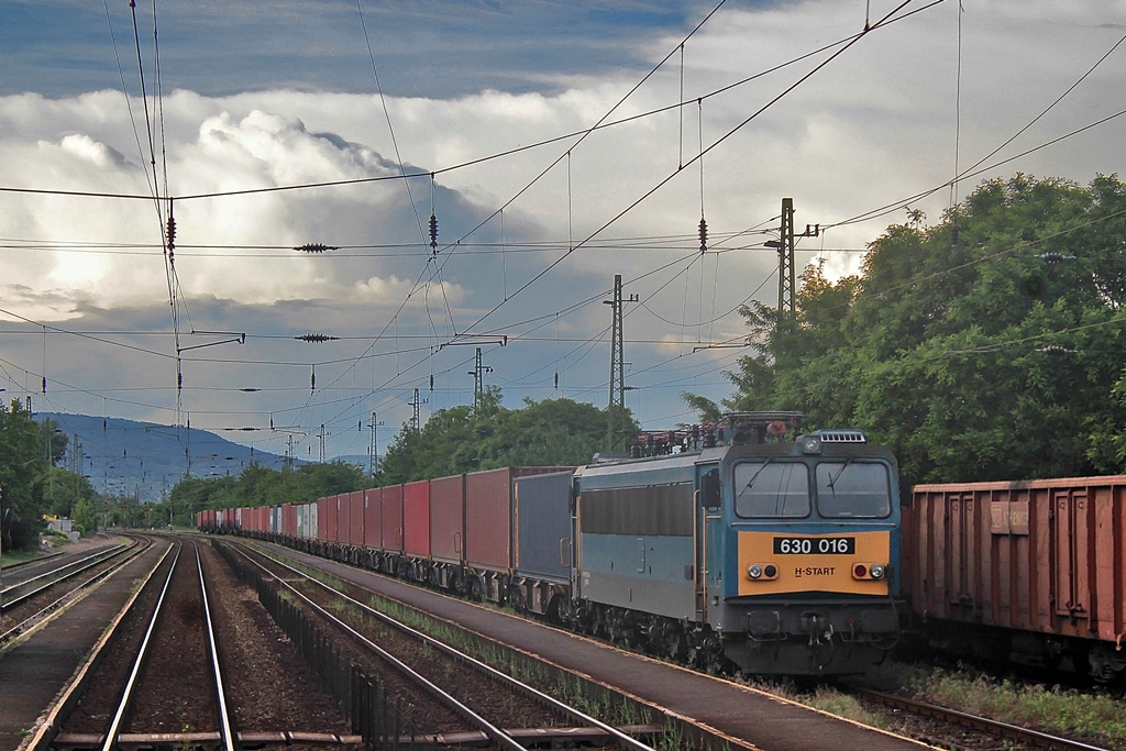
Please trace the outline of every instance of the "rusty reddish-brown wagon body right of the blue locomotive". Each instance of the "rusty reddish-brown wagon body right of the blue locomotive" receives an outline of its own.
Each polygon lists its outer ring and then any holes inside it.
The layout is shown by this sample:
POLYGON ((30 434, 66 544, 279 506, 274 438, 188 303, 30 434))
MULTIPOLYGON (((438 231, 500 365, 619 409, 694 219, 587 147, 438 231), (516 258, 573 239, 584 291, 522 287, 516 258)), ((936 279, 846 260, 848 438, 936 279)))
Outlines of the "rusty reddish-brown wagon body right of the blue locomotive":
POLYGON ((1126 476, 917 485, 903 522, 917 613, 1126 635, 1126 476))

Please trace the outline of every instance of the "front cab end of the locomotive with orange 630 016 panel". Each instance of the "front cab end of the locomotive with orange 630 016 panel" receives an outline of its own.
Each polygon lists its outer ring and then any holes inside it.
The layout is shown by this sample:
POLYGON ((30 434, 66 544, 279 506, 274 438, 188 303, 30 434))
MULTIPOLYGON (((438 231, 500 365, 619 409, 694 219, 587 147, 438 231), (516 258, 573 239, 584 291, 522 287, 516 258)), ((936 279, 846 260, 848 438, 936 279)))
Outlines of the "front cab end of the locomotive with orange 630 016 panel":
POLYGON ((857 673, 899 636, 897 466, 860 430, 733 446, 705 489, 708 622, 752 672, 857 673))

